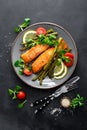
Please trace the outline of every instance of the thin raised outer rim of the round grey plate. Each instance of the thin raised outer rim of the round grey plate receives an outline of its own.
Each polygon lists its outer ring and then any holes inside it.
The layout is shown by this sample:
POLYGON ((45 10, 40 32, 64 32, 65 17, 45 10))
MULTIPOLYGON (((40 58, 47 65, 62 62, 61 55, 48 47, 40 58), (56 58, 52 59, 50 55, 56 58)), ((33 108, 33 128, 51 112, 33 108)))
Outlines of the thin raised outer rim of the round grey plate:
POLYGON ((15 38, 15 40, 14 40, 13 43, 12 43, 12 47, 11 47, 11 65, 12 65, 12 68, 13 68, 13 70, 15 71, 16 75, 18 76, 18 78, 21 79, 22 82, 24 82, 25 84, 27 84, 28 86, 33 87, 33 88, 46 90, 46 89, 52 89, 52 88, 56 88, 56 87, 61 86, 62 84, 64 84, 64 83, 72 76, 72 74, 74 73, 74 71, 75 71, 75 69, 76 69, 77 62, 78 62, 78 50, 77 50, 77 46, 76 46, 76 43, 75 43, 73 37, 71 36, 71 34, 70 34, 64 27, 62 27, 61 25, 56 24, 56 23, 52 23, 52 22, 37 22, 37 23, 31 24, 30 26, 28 26, 27 28, 25 28, 23 31, 21 31, 21 32, 17 35, 17 37, 15 38), (74 68, 73 68, 72 73, 71 73, 70 76, 67 77, 66 80, 63 81, 60 85, 55 85, 55 86, 53 86, 53 87, 42 87, 42 86, 41 86, 41 87, 35 87, 35 86, 33 86, 33 85, 30 85, 30 84, 26 83, 26 81, 24 81, 24 80, 19 76, 19 74, 17 73, 17 71, 14 69, 14 63, 13 63, 13 60, 12 60, 13 48, 14 48, 14 46, 15 46, 15 44, 16 44, 17 39, 21 36, 21 34, 22 34, 23 32, 25 32, 26 30, 28 30, 30 27, 36 26, 36 25, 40 25, 40 24, 52 25, 52 26, 56 26, 56 27, 62 29, 62 30, 70 37, 70 39, 72 40, 73 46, 74 46, 74 48, 75 48, 75 50, 76 50, 76 62, 75 62, 75 64, 74 64, 74 68))

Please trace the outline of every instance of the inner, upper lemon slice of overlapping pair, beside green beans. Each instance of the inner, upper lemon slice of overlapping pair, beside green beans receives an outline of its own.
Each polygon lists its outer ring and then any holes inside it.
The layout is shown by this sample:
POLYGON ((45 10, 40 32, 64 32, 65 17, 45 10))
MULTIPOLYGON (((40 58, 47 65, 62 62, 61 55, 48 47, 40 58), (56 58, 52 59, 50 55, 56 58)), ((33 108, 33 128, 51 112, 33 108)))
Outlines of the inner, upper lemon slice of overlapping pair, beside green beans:
POLYGON ((62 62, 61 59, 58 59, 58 61, 60 61, 60 65, 55 67, 54 76, 60 75, 64 70, 64 63, 62 62))

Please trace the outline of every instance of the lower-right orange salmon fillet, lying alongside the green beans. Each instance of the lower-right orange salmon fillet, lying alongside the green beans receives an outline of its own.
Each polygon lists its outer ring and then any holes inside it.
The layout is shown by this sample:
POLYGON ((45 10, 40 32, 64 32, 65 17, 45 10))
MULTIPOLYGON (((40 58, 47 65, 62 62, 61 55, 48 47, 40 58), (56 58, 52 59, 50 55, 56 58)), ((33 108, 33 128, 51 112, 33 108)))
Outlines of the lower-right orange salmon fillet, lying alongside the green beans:
POLYGON ((43 52, 32 64, 33 73, 38 73, 46 65, 52 55, 54 48, 49 48, 43 52))

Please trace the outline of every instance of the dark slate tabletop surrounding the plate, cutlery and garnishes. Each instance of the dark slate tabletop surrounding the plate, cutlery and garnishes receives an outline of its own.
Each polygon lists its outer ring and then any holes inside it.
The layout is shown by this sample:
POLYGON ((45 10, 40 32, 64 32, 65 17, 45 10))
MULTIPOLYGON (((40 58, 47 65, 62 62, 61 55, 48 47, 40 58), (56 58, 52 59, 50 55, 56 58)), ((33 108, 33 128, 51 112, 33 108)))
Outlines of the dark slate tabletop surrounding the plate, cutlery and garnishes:
POLYGON ((87 129, 87 1, 86 0, 0 0, 0 130, 86 130, 87 129), (62 112, 58 117, 50 114, 51 109, 59 106, 59 99, 53 101, 44 113, 37 117, 29 107, 36 98, 54 92, 38 90, 24 84, 11 66, 11 46, 17 34, 14 28, 25 17, 31 24, 48 21, 67 29, 74 38, 79 59, 73 76, 81 77, 78 90, 67 94, 74 97, 77 93, 85 97, 85 106, 73 115, 62 112), (23 86, 27 100, 23 109, 17 108, 8 96, 8 88, 23 86))

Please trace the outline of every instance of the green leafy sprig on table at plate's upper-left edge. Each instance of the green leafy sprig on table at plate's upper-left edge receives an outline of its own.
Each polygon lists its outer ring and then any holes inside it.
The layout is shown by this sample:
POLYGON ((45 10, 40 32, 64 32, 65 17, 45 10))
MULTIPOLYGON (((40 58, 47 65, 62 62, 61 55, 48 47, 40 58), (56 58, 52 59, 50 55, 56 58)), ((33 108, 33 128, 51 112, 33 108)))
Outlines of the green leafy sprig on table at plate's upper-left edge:
POLYGON ((21 32, 21 31, 23 31, 23 29, 25 29, 26 27, 29 26, 30 21, 31 21, 30 18, 25 18, 25 19, 24 19, 24 22, 23 22, 22 24, 18 25, 18 27, 16 27, 16 28, 14 29, 14 31, 15 31, 16 33, 19 33, 19 32, 21 32))

